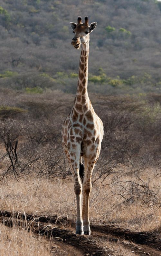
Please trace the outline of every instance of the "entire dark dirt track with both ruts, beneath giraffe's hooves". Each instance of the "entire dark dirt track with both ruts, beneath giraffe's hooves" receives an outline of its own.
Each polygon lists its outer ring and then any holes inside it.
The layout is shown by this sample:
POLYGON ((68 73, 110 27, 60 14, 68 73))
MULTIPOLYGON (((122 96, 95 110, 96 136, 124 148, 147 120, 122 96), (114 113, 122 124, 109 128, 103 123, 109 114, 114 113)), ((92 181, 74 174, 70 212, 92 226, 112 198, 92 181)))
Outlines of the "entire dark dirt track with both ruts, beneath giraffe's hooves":
POLYGON ((161 255, 161 240, 151 233, 134 232, 107 224, 91 225, 91 236, 78 236, 69 230, 75 223, 66 217, 60 219, 56 215, 49 217, 0 212, 0 221, 7 226, 13 226, 13 220, 17 219, 18 225, 26 225, 26 228, 30 226, 35 234, 45 235, 50 240, 51 248, 54 249, 56 244, 59 248, 57 255, 114 255, 110 249, 105 249, 106 241, 119 242, 137 255, 161 255))

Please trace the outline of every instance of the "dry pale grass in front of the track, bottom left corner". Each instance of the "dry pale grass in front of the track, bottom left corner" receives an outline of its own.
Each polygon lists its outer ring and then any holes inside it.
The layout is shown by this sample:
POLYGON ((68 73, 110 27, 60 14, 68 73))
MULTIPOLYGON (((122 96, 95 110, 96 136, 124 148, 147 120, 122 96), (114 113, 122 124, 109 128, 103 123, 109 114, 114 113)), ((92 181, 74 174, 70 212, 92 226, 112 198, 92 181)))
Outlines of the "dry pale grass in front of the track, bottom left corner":
POLYGON ((49 256, 49 246, 41 237, 33 237, 31 232, 8 228, 0 223, 0 255, 49 256))

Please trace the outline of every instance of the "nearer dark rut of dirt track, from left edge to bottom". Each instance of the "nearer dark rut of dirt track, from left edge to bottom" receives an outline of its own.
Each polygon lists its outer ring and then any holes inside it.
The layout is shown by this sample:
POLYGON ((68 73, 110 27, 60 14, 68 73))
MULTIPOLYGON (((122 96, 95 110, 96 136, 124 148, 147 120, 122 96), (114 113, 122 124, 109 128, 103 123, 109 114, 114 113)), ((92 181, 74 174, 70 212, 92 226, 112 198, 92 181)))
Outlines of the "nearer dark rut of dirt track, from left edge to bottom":
MULTIPOLYGON (((26 230, 32 230, 33 233, 43 235, 47 239, 55 242, 59 247, 64 248, 67 255, 106 255, 103 247, 97 244, 97 241, 90 236, 79 236, 74 232, 58 228, 51 222, 55 219, 57 224, 62 223, 64 219, 57 220, 57 217, 33 216, 19 213, 0 212, 0 221, 9 227, 14 224, 21 226, 26 230)), ((64 255, 64 254, 62 254, 64 255)))

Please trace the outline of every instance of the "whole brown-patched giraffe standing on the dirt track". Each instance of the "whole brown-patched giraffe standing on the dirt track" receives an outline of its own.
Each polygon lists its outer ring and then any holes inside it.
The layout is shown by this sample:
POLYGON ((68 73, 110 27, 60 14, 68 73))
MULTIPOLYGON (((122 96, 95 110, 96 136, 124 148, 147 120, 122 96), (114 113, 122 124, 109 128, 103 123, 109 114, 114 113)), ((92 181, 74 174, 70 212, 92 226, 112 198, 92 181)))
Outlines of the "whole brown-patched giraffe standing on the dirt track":
POLYGON ((71 44, 76 49, 81 46, 81 58, 74 106, 62 125, 62 147, 67 155, 74 178, 74 192, 77 200, 76 234, 90 235, 89 195, 92 187, 91 176, 99 158, 103 139, 103 123, 94 112, 87 92, 89 34, 95 29, 97 22, 93 22, 89 26, 88 17, 85 17, 84 23, 81 20, 82 18, 78 17, 77 24, 70 22, 75 34, 71 44), (81 183, 82 157, 85 173, 81 183), (81 207, 82 192, 83 207, 81 207))

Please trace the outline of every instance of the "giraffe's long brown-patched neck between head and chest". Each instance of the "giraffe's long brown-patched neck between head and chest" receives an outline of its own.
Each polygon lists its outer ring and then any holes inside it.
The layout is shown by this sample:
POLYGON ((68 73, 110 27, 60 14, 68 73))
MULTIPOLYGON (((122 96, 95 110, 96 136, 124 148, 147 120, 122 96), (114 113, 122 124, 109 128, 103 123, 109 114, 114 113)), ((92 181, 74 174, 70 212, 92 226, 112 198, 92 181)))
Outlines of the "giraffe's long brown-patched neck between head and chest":
POLYGON ((76 103, 81 105, 85 105, 85 104, 87 105, 89 103, 89 97, 87 92, 88 55, 89 55, 89 42, 86 44, 82 44, 81 46, 78 87, 77 87, 77 94, 76 94, 76 103))

